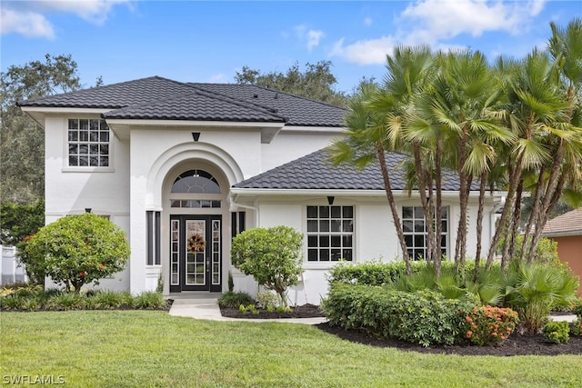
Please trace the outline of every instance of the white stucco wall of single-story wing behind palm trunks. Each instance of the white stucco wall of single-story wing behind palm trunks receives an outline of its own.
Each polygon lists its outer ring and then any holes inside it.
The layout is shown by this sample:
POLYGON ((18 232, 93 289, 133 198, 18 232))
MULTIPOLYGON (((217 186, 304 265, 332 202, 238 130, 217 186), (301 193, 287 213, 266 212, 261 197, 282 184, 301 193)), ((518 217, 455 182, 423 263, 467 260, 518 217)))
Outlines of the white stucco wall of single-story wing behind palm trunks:
MULTIPOLYGON (((327 205, 326 196, 317 198, 310 197, 279 197, 274 196, 260 197, 257 199, 259 209, 260 226, 270 227, 285 224, 295 228, 303 234, 306 234, 306 206, 307 205, 327 205)), ((491 230, 491 213, 493 199, 487 200, 487 212, 483 218, 483 253, 487 254, 490 241, 491 230)), ((334 205, 353 205, 355 207, 355 260, 354 263, 363 263, 368 261, 391 262, 400 260, 402 250, 397 240, 396 228, 390 208, 387 204, 386 197, 378 196, 371 198, 341 198, 336 196, 334 205)), ((408 198, 406 194, 400 196, 397 200, 398 215, 402 216, 402 206, 418 206, 419 202, 413 198, 408 198)), ((455 254, 455 238, 457 235, 457 224, 459 205, 456 197, 447 198, 444 206, 449 210, 449 230, 448 235, 448 255, 453 257, 455 254)), ((472 258, 476 252, 477 244, 477 201, 471 200, 469 210, 469 223, 467 226, 467 258, 472 258)), ((306 257, 306 242, 304 247, 304 256, 306 257)), ((322 297, 327 294, 326 275, 329 268, 336 265, 336 262, 307 262, 304 260, 303 268, 305 273, 303 278, 296 287, 288 293, 291 303, 319 304, 322 297)), ((239 291, 256 294, 257 285, 252 278, 246 277, 238 280, 236 285, 239 291)))

